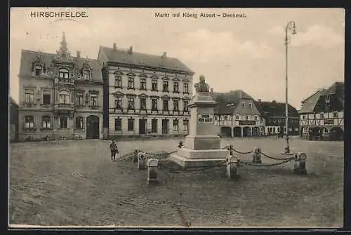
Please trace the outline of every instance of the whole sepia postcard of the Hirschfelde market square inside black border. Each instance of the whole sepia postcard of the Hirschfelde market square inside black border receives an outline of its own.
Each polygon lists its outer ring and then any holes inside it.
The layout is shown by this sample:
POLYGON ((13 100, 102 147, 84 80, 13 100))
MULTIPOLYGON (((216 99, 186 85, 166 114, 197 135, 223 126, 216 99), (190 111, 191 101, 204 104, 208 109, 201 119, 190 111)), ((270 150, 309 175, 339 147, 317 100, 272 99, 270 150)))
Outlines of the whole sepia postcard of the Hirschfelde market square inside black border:
POLYGON ((343 8, 11 8, 8 227, 343 227, 343 8))

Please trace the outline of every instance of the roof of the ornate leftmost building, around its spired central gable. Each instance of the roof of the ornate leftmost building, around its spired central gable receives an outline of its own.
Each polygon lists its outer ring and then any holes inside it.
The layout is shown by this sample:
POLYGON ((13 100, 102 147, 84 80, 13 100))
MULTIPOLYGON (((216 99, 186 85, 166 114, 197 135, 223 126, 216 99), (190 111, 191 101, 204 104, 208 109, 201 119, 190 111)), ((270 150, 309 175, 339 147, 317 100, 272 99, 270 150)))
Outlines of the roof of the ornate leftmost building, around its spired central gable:
MULTIPOLYGON (((39 55, 38 51, 27 51, 22 50, 21 62, 20 62, 20 75, 21 76, 31 76, 32 75, 32 62, 36 60, 39 55)), ((48 67, 55 56, 54 53, 44 53, 40 52, 41 60, 44 62, 45 66, 48 67)), ((77 65, 78 69, 81 69, 85 61, 88 61, 89 66, 93 70, 93 81, 102 81, 101 68, 98 60, 88 59, 88 58, 77 58, 72 57, 73 62, 77 65)))

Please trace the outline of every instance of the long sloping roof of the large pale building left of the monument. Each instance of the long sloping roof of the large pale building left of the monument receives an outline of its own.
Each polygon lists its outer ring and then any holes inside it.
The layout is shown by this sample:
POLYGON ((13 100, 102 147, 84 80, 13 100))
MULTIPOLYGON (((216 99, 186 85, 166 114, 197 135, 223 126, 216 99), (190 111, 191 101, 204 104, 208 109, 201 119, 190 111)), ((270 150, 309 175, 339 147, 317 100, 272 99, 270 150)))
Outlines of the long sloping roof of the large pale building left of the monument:
POLYGON ((134 51, 128 53, 128 50, 108 48, 105 46, 100 46, 99 54, 100 53, 103 54, 99 56, 100 60, 105 60, 102 62, 116 62, 125 65, 172 69, 194 74, 192 70, 184 65, 183 62, 180 62, 180 60, 177 58, 170 58, 161 55, 150 55, 134 51))

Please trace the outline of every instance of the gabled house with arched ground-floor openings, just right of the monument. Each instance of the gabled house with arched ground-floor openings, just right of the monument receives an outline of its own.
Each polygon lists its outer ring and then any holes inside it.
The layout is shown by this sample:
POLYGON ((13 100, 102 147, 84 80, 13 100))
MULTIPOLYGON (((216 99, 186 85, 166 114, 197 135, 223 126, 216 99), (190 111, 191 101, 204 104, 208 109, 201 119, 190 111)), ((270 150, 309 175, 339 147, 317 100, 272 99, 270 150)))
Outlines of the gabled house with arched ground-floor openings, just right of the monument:
POLYGON ((215 125, 227 137, 261 136, 265 134, 265 119, 253 98, 242 90, 213 93, 218 102, 215 125))

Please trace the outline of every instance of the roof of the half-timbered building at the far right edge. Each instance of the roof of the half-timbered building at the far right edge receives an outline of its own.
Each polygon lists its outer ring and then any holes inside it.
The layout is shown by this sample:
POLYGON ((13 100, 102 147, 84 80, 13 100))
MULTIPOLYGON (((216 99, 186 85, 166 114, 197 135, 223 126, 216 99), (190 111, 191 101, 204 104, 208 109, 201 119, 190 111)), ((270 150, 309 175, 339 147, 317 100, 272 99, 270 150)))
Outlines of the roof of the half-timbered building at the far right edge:
POLYGON ((324 90, 318 90, 316 93, 302 101, 301 109, 298 111, 299 114, 309 114, 314 112, 317 102, 321 96, 334 95, 336 94, 338 100, 344 105, 345 100, 345 85, 343 82, 335 82, 329 88, 324 90))

